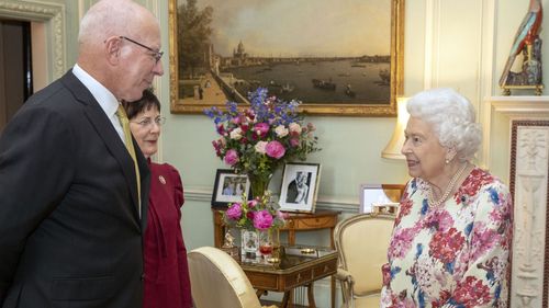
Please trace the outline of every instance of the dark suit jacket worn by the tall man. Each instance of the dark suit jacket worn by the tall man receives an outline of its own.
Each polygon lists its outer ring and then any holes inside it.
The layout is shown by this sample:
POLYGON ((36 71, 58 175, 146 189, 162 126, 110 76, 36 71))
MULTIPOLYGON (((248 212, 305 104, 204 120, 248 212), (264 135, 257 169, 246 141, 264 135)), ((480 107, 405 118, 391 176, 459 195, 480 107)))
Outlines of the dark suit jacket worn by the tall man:
POLYGON ((88 89, 67 72, 0 137, 0 305, 142 306, 149 171, 88 89))

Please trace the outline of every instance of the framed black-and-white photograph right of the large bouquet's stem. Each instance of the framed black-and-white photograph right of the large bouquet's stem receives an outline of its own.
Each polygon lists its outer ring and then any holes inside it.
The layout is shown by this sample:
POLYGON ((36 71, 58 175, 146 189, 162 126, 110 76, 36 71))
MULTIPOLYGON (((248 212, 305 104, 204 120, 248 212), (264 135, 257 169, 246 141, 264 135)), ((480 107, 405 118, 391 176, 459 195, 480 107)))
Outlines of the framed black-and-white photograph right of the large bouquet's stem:
POLYGON ((320 163, 287 163, 282 173, 280 209, 314 213, 320 178, 320 163))

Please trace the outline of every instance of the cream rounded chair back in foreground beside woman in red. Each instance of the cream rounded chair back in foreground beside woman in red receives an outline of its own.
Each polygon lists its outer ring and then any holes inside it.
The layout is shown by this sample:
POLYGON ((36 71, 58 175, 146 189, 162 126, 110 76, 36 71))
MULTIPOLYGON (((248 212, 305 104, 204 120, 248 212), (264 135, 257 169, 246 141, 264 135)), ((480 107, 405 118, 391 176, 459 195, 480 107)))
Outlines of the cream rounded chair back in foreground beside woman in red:
POLYGON ((189 252, 188 260, 195 308, 261 307, 240 265, 226 252, 201 247, 189 252))

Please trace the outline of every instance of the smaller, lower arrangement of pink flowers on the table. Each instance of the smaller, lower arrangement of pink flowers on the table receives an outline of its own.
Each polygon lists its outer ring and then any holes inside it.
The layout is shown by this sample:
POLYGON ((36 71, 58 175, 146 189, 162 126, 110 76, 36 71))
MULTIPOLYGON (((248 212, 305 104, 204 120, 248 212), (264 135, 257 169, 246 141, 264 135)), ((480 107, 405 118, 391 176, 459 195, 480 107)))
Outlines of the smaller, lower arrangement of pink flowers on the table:
POLYGON ((284 226, 287 214, 274 209, 276 205, 270 202, 270 193, 261 197, 242 203, 233 203, 224 214, 227 226, 242 229, 267 230, 284 226))

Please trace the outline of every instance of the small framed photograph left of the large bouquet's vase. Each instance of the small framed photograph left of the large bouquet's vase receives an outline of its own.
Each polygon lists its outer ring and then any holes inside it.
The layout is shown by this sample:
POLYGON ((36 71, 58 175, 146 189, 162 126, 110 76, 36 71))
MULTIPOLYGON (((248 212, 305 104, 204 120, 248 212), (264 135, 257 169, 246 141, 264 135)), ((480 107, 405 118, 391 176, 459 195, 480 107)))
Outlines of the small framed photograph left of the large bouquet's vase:
POLYGON ((242 202, 242 195, 250 195, 248 176, 231 169, 217 169, 213 185, 212 207, 227 208, 229 203, 242 202))

